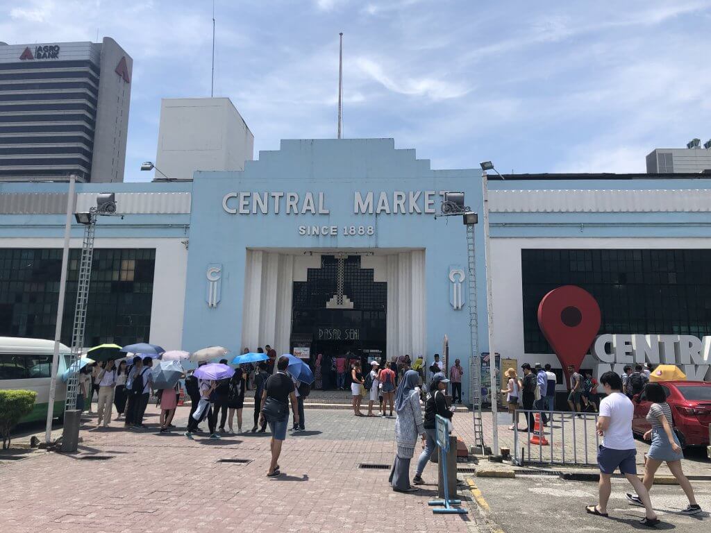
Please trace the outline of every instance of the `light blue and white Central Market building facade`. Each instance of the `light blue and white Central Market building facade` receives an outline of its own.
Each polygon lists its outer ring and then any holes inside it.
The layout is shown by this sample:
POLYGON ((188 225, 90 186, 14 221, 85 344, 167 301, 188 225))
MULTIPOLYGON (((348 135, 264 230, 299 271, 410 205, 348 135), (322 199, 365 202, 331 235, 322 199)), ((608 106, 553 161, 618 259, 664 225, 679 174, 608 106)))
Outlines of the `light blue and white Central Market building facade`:
MULTIPOLYGON (((577 284, 599 302, 600 334, 621 337, 591 350, 583 367, 634 360, 624 335, 686 335, 701 343, 695 372, 707 368, 709 176, 505 177, 489 183, 494 340, 505 364, 560 369, 535 311, 547 291, 577 284)), ((0 318, 9 319, 0 334, 53 331, 56 262, 42 250, 61 247, 66 190, 0 183, 0 318), (43 284, 32 298, 31 283, 43 284)), ((198 171, 192 182, 78 184, 76 210, 114 192, 124 215, 97 227, 92 296, 101 320, 90 318, 87 343, 235 353, 271 345, 322 362, 346 353, 365 363, 406 354, 431 362, 446 337, 449 366, 459 358, 464 367, 466 403, 466 226, 435 217, 446 191, 463 192, 480 215, 475 338, 487 352, 481 171, 433 170, 392 139, 282 141, 244 171, 198 171)), ((75 225, 73 247, 81 232, 75 225)))

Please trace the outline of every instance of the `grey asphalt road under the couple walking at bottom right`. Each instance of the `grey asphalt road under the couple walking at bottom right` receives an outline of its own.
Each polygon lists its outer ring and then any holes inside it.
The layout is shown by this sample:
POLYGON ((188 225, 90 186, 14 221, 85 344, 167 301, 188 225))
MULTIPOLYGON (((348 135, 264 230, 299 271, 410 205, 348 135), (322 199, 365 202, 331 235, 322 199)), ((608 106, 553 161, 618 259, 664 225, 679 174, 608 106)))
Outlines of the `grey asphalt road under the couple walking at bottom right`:
MULTIPOLYGON (((627 504, 624 493, 631 492, 626 480, 613 480, 608 505, 609 518, 587 515, 586 505, 597 503, 597 483, 563 481, 555 476, 523 476, 515 479, 475 478, 474 483, 490 507, 489 518, 506 533, 540 532, 629 532, 650 530, 638 524, 641 507, 627 504)), ((697 501, 711 510, 711 483, 693 482, 697 501)), ((652 503, 662 524, 657 529, 679 533, 711 531, 708 512, 695 517, 680 515, 688 500, 676 485, 657 485, 652 503)))

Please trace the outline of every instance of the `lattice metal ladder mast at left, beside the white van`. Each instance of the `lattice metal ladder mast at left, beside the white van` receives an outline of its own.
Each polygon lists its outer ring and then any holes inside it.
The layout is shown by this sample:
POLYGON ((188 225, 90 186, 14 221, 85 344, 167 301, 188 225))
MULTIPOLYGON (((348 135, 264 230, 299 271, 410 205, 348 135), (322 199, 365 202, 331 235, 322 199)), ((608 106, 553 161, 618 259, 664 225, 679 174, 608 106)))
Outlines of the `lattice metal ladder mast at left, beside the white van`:
MULTIPOLYGON (((77 302, 74 308, 74 325, 72 327, 72 355, 67 367, 78 365, 84 347, 84 331, 87 321, 87 301, 89 300, 89 284, 91 281, 91 266, 94 259, 94 235, 96 232, 96 208, 89 212, 89 223, 84 227, 84 241, 82 242, 82 255, 79 262, 77 277, 77 302)), ((67 399, 65 411, 77 408, 77 394, 79 394, 79 373, 71 375, 67 381, 67 399)))

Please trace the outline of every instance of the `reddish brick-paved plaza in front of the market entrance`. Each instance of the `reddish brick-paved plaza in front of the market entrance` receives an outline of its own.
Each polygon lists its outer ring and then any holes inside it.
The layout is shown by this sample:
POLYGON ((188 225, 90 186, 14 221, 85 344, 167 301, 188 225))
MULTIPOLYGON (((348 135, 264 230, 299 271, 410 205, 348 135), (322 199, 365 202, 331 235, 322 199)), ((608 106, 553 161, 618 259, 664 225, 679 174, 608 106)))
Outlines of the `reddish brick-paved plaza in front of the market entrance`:
MULTIPOLYGON (((146 422, 157 424, 154 406, 148 414, 146 422)), ((178 408, 176 424, 184 426, 187 415, 187 408, 178 408)), ((245 409, 247 429, 251 415, 245 409)), ((265 477, 268 435, 189 441, 177 430, 161 435, 112 424, 90 431, 85 424, 80 445, 80 456, 113 456, 109 460, 38 453, 1 465, 2 532, 380 533, 475 527, 469 521, 474 517, 432 514, 427 500, 436 495, 436 485, 401 494, 387 484, 387 470, 357 468, 391 463, 394 419, 307 409, 308 431, 287 437, 279 461, 285 475, 277 479, 265 477), (220 458, 252 462, 218 463, 220 458)), ((427 466, 426 480, 436 480, 435 468, 427 466)))

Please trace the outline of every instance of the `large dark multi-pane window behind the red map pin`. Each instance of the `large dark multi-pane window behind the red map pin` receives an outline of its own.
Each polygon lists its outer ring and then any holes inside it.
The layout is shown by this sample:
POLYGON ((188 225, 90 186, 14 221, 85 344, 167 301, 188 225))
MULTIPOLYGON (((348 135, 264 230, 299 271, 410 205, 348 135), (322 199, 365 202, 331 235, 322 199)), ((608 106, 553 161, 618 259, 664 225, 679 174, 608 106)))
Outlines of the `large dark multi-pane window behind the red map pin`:
POLYGON ((711 249, 521 250, 524 350, 552 353, 538 304, 578 285, 597 300, 604 333, 711 335, 711 249))

